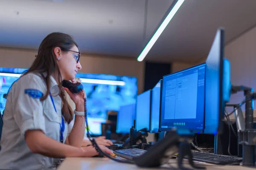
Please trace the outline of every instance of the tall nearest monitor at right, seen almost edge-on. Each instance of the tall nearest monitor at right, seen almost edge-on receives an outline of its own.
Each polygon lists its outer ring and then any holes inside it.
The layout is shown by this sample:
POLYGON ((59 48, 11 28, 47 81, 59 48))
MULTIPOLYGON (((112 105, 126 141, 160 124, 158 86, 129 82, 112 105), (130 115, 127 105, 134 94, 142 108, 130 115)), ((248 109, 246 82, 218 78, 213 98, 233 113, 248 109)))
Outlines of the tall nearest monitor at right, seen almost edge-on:
POLYGON ((226 94, 222 93, 226 89, 226 85, 223 86, 223 62, 224 29, 218 29, 206 60, 204 133, 221 133, 223 128, 221 120, 226 102, 223 96, 226 94))

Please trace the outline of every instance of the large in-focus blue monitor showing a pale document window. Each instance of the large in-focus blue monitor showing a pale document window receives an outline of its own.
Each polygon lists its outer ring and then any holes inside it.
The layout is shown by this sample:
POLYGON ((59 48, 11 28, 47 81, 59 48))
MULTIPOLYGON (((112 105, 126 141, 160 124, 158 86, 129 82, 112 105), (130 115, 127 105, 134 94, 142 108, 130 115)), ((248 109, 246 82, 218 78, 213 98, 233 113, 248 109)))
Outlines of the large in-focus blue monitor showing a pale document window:
POLYGON ((205 64, 163 77, 160 131, 204 129, 205 64))

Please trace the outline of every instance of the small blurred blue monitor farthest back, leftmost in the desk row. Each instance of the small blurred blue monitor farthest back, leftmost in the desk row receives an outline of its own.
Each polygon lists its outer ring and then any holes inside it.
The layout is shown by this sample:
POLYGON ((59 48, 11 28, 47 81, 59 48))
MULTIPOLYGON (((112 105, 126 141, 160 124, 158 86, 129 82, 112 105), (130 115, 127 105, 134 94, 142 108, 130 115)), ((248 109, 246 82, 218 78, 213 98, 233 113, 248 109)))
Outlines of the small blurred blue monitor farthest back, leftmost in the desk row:
POLYGON ((130 133, 134 125, 135 104, 121 106, 117 113, 116 133, 130 133))

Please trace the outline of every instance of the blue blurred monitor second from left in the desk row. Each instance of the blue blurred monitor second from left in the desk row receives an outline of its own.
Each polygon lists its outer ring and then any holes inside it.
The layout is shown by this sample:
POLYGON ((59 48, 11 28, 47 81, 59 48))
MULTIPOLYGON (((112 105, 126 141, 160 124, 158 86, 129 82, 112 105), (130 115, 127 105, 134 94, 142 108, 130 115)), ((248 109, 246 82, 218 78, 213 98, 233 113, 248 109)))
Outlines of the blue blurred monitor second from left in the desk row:
POLYGON ((146 131, 150 130, 150 113, 151 113, 151 90, 137 96, 136 104, 136 124, 137 131, 146 128, 146 131))

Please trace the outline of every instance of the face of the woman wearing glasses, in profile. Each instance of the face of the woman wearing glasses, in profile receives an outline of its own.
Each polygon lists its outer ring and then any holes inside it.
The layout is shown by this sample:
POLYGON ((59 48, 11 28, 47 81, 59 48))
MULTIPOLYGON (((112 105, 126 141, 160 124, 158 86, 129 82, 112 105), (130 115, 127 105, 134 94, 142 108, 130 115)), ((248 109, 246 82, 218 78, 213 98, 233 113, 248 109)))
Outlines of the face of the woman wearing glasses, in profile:
POLYGON ((60 51, 59 57, 57 57, 57 61, 58 61, 57 63, 61 71, 62 79, 65 79, 65 80, 75 79, 75 76, 78 70, 82 68, 80 62, 77 62, 77 59, 79 57, 78 52, 79 50, 76 47, 76 45, 74 45, 70 49, 70 51, 60 51), (73 51, 76 51, 76 52, 73 52, 73 51))

